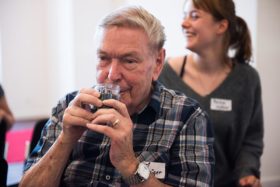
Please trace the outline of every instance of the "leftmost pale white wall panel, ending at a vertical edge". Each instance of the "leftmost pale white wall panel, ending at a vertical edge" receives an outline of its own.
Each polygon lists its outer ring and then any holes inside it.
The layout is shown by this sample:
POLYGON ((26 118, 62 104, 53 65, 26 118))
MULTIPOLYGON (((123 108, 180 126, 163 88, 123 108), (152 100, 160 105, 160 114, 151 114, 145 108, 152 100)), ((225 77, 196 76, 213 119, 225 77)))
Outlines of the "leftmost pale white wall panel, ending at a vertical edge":
POLYGON ((45 29, 42 1, 0 1, 1 84, 16 118, 50 111, 45 29))

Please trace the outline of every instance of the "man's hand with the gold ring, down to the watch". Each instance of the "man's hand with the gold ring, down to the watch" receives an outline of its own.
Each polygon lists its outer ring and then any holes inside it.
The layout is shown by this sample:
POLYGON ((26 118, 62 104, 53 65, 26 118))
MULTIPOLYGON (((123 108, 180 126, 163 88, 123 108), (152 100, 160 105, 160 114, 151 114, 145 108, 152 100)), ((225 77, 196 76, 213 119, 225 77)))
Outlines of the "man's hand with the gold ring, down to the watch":
POLYGON ((123 176, 132 175, 138 165, 133 150, 133 123, 125 104, 108 99, 103 104, 110 107, 94 113, 94 120, 87 125, 93 131, 111 139, 110 160, 123 176))

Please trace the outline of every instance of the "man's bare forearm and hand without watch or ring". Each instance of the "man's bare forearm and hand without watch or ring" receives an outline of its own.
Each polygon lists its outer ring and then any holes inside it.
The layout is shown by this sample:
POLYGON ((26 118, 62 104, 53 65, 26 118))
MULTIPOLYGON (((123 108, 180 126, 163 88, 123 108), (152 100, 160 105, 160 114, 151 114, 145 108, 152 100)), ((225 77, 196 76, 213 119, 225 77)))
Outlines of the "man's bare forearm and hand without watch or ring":
POLYGON ((93 114, 81 108, 81 103, 91 99, 93 104, 100 106, 101 101, 97 98, 98 96, 99 94, 92 89, 81 90, 77 94, 63 113, 61 133, 44 156, 26 171, 21 179, 20 187, 56 187, 60 185, 73 147, 86 130, 86 123, 92 119, 93 114))

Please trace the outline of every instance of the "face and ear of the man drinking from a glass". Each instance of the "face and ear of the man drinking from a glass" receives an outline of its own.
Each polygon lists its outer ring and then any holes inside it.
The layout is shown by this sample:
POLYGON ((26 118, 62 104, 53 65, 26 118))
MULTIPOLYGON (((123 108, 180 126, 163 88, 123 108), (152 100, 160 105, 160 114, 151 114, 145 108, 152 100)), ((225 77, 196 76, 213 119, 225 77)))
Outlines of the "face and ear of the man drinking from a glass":
POLYGON ((147 105, 162 68, 163 50, 152 54, 142 30, 112 27, 103 31, 97 56, 97 82, 120 85, 120 101, 130 114, 147 105))

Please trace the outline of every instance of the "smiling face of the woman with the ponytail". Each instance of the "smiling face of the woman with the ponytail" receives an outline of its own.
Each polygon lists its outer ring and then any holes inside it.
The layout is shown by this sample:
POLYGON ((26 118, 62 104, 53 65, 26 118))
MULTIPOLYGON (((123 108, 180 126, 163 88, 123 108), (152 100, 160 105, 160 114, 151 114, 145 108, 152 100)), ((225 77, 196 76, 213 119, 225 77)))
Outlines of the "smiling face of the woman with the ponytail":
POLYGON ((216 48, 221 36, 220 21, 202 10, 194 7, 192 0, 184 5, 182 28, 186 37, 186 48, 193 52, 216 48))

